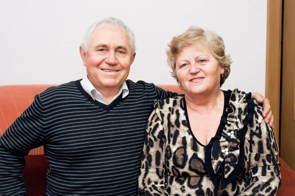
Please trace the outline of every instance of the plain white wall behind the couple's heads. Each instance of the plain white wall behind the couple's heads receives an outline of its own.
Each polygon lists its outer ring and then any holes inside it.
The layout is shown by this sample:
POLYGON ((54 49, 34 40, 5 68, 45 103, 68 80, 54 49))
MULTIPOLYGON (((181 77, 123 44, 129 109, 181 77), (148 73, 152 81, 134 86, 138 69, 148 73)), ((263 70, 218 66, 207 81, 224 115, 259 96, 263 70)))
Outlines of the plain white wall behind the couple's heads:
POLYGON ((108 16, 129 25, 137 56, 129 79, 176 84, 165 49, 190 25, 221 35, 232 73, 223 89, 265 94, 267 0, 0 0, 0 85, 61 84, 84 77, 79 44, 108 16))

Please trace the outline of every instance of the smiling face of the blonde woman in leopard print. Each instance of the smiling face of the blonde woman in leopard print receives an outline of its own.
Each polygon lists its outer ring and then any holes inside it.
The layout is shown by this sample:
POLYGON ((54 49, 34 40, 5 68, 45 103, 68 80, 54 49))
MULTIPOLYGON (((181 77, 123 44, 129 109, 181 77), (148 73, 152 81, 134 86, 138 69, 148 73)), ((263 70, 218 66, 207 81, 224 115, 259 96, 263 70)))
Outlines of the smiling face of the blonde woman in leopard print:
POLYGON ((190 44, 183 47, 176 60, 176 76, 185 94, 201 95, 220 89, 224 73, 207 46, 190 44))

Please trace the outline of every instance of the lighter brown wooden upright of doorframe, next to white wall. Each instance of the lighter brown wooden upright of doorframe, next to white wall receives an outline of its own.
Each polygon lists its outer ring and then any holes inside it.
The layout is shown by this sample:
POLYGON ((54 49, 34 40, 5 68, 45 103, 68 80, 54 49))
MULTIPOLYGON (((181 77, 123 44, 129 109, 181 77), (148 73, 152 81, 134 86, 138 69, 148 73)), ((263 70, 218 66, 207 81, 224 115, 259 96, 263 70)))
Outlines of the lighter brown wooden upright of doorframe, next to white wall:
MULTIPOLYGON (((274 115, 274 134, 280 141, 282 0, 267 0, 266 98, 274 115)), ((280 143, 280 142, 279 142, 280 143)))

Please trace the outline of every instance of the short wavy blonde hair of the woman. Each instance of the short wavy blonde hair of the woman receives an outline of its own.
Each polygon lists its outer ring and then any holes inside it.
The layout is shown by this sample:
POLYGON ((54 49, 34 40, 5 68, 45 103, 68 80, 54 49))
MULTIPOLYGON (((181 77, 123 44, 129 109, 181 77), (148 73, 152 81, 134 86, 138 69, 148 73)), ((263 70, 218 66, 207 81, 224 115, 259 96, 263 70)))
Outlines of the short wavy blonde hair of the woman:
POLYGON ((168 44, 169 48, 166 50, 167 63, 172 69, 172 77, 178 82, 176 75, 176 60, 183 47, 190 44, 207 46, 219 65, 224 68, 224 73, 220 76, 221 86, 231 72, 232 61, 230 54, 225 54, 224 42, 219 35, 212 31, 205 31, 198 26, 190 26, 181 35, 173 37, 168 44))

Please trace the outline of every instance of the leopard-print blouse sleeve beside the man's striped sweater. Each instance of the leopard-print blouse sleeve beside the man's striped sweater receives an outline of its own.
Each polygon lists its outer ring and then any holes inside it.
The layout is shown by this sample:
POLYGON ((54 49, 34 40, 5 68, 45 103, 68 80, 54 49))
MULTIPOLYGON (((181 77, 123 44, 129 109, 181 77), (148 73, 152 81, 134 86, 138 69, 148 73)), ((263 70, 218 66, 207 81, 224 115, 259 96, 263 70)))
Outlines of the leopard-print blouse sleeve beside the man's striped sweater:
POLYGON ((169 196, 166 186, 165 136, 158 109, 147 123, 142 164, 139 175, 139 196, 169 196))

